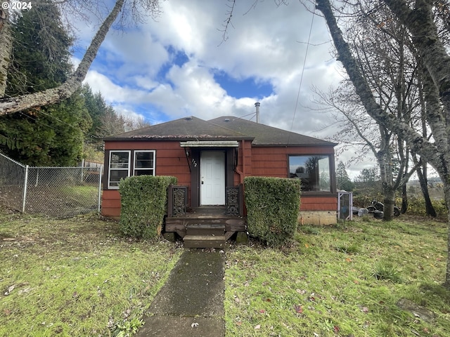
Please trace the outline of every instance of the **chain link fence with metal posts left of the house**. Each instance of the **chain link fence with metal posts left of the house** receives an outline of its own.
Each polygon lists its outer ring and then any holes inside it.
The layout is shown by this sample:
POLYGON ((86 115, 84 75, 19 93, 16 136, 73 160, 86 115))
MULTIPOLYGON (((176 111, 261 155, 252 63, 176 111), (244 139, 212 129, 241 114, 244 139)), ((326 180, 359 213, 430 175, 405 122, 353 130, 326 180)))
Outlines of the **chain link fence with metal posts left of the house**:
POLYGON ((0 204, 67 217, 100 211, 101 167, 31 167, 0 153, 0 204))

